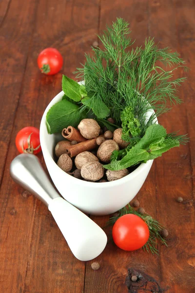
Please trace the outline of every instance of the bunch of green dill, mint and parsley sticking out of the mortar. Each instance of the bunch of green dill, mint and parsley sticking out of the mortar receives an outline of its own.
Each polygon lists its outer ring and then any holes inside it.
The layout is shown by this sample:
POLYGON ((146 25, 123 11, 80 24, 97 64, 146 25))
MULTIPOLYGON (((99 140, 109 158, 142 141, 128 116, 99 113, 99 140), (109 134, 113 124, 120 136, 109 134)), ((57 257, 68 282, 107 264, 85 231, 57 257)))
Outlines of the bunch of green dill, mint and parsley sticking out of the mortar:
POLYGON ((104 166, 111 170, 155 159, 185 144, 185 135, 167 134, 163 126, 155 124, 156 117, 171 109, 170 104, 181 103, 177 86, 186 78, 173 79, 177 68, 185 68, 179 54, 170 48, 159 49, 150 38, 143 47, 132 48, 134 41, 123 19, 117 19, 98 37, 103 49, 92 48, 93 55, 86 54, 85 64, 77 68, 77 78, 84 85, 63 76, 65 95, 47 114, 49 133, 78 126, 89 113, 100 126, 112 131, 122 128, 122 139, 130 144, 113 153, 111 163, 104 166), (108 117, 114 118, 115 125, 108 117))

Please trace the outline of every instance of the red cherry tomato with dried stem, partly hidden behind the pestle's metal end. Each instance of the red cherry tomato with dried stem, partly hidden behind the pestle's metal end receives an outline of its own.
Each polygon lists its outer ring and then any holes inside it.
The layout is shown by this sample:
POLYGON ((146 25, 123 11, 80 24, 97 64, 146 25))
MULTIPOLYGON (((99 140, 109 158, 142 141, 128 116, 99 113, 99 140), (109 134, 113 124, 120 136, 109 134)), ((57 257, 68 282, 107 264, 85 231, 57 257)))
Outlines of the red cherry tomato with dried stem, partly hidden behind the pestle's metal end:
POLYGON ((22 128, 16 136, 16 147, 20 153, 38 154, 41 151, 39 129, 32 126, 22 128))

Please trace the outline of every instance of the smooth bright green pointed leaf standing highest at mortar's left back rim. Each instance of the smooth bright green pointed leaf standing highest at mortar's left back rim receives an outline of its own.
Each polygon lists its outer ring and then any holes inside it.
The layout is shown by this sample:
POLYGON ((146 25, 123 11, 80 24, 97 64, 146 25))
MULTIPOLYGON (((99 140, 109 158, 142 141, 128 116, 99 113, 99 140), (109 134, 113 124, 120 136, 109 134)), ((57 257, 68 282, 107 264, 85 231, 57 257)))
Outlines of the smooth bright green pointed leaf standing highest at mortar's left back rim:
POLYGON ((82 98, 79 92, 80 87, 81 85, 79 85, 74 80, 68 78, 65 75, 62 76, 62 90, 69 98, 71 98, 72 100, 76 102, 79 102, 82 98))

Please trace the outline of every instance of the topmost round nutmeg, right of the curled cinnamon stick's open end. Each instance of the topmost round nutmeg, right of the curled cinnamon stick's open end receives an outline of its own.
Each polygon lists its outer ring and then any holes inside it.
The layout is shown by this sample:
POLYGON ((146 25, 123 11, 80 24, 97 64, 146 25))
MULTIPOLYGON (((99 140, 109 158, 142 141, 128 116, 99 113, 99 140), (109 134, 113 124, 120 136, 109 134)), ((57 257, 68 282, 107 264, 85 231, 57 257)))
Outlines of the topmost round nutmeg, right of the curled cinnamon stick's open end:
POLYGON ((83 119, 78 125, 78 129, 82 136, 86 139, 96 138, 100 132, 100 126, 94 119, 83 119))

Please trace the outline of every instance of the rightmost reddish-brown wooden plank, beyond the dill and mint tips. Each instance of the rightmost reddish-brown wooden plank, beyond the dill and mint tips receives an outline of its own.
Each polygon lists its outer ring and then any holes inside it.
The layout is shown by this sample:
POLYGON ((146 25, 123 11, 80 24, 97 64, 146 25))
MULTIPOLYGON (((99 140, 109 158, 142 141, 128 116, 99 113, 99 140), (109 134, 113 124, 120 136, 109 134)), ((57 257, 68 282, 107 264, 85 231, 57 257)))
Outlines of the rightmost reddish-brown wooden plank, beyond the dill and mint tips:
MULTIPOLYGON (((193 1, 150 1, 152 36, 156 37, 156 42, 159 41, 162 47, 171 46, 179 52, 182 50, 182 57, 190 67, 195 49, 194 42, 189 40, 189 34, 192 34, 191 38, 195 38, 194 14, 193 1)), ((185 76, 185 73, 178 70, 177 77, 179 76, 185 76)), ((180 133, 189 133, 188 115, 192 117, 190 123, 193 134, 193 71, 188 76, 191 77, 190 81, 182 84, 179 90, 185 104, 174 107, 171 113, 159 119, 168 132, 180 129, 180 133), (191 98, 188 97, 189 94, 191 98)), ((193 141, 156 159, 158 219, 164 222, 170 233, 169 247, 160 248, 161 281, 170 287, 170 293, 194 292, 195 288, 195 215, 190 153, 192 144, 193 141), (176 202, 178 196, 184 198, 183 204, 176 202)))

